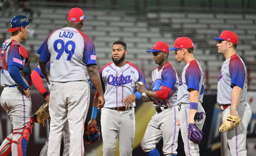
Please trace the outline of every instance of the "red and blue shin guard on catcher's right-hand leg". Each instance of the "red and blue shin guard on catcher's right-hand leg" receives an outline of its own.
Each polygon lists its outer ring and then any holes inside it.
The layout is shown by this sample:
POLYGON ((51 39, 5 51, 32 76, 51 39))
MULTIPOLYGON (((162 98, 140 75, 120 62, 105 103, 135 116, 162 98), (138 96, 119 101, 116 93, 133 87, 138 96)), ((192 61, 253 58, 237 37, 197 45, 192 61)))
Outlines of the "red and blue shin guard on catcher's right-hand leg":
MULTIPOLYGON (((20 128, 20 129, 23 129, 22 132, 12 133, 13 135, 21 134, 21 137, 18 139, 18 141, 12 140, 12 143, 17 144, 18 156, 27 155, 27 142, 28 142, 29 136, 32 134, 32 127, 33 127, 33 122, 32 120, 30 120, 30 122, 28 122, 25 127, 20 128)), ((20 130, 20 129, 13 129, 13 131, 20 130)))

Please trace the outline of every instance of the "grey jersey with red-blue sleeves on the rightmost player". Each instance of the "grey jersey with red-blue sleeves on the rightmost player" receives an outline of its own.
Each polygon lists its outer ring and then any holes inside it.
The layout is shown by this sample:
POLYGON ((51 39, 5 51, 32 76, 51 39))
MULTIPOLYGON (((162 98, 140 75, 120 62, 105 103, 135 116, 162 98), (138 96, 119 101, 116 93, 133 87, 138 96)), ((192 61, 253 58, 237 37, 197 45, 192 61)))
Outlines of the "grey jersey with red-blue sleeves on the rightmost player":
POLYGON ((234 86, 242 88, 241 100, 247 98, 246 66, 237 54, 223 62, 218 79, 217 104, 231 104, 231 92, 234 86))

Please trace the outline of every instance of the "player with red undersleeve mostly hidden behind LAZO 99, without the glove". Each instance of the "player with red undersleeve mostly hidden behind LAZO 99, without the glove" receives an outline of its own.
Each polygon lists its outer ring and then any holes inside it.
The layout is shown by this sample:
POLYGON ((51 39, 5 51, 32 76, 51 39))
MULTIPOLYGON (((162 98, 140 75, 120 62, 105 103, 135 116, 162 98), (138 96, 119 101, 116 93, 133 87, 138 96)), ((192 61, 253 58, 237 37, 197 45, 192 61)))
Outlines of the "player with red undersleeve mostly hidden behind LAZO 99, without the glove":
MULTIPOLYGON (((50 71, 50 62, 47 62, 47 72, 50 71)), ((36 89, 42 94, 42 96, 45 98, 46 101, 50 101, 50 94, 47 91, 47 89, 43 85, 42 79, 45 78, 43 75, 40 66, 38 65, 34 71, 31 73, 31 79, 33 82, 33 85, 36 87, 36 89)), ((48 89, 50 91, 50 85, 48 85, 48 89)), ((51 119, 48 119, 49 125, 50 125, 51 119)), ((64 129, 64 134, 63 134, 63 140, 64 140, 64 150, 63 150, 63 156, 68 156, 69 155, 69 146, 70 146, 70 133, 68 130, 68 124, 66 124, 65 129, 64 129)), ((48 143, 49 143, 49 138, 46 140, 45 145, 43 146, 40 155, 39 156, 47 156, 47 150, 48 150, 48 143)))

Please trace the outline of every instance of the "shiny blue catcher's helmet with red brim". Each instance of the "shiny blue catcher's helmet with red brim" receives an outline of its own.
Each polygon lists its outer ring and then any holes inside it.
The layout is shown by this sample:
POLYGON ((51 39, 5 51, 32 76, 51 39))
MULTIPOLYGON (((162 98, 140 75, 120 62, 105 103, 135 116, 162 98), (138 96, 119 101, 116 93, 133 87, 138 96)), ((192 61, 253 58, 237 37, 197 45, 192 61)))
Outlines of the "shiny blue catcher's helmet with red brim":
POLYGON ((29 25, 29 21, 26 16, 18 15, 12 17, 9 22, 10 29, 8 29, 7 32, 16 32, 21 27, 26 27, 27 25, 29 25))

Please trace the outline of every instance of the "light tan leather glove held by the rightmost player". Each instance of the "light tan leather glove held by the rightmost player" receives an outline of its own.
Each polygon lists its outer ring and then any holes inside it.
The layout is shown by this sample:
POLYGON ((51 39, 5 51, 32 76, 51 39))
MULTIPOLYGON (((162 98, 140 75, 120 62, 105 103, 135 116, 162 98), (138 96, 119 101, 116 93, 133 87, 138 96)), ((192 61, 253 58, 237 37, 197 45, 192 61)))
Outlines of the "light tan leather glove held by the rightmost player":
POLYGON ((239 124, 241 124, 241 118, 239 116, 233 116, 229 114, 227 119, 225 119, 225 121, 219 127, 219 131, 220 132, 230 131, 235 127, 237 127, 239 124), (233 126, 231 125, 230 121, 233 122, 233 126))

